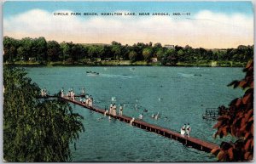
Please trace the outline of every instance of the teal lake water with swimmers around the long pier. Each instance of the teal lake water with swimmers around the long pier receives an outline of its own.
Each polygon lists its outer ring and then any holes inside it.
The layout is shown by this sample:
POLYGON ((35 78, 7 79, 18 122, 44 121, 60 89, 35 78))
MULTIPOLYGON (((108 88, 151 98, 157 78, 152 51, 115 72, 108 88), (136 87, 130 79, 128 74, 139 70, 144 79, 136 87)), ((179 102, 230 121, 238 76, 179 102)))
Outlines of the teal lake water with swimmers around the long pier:
MULTIPOLYGON (((115 104, 124 104, 124 115, 179 131, 184 123, 192 127, 191 136, 219 144, 213 139, 215 121, 203 120, 206 108, 229 105, 240 97, 241 89, 227 87, 244 76, 242 68, 209 67, 28 67, 28 76, 50 94, 61 88, 81 88, 94 98, 96 106, 104 109, 115 97, 115 104), (96 71, 99 75, 89 75, 96 71), (136 110, 137 106, 138 110, 136 110), (143 112, 147 109, 148 112, 143 112), (152 114, 160 113, 154 120, 152 114), (164 117, 167 119, 164 119, 164 117)), ((125 122, 109 121, 107 117, 72 105, 84 116, 85 132, 80 133, 73 161, 216 161, 208 153, 187 148, 172 139, 148 133, 125 122)), ((230 138, 229 138, 230 139, 230 138)))

